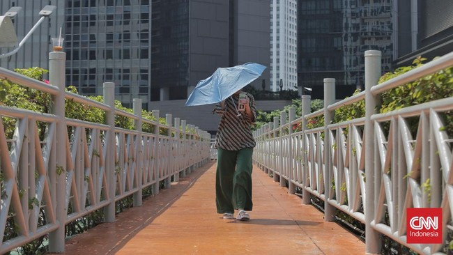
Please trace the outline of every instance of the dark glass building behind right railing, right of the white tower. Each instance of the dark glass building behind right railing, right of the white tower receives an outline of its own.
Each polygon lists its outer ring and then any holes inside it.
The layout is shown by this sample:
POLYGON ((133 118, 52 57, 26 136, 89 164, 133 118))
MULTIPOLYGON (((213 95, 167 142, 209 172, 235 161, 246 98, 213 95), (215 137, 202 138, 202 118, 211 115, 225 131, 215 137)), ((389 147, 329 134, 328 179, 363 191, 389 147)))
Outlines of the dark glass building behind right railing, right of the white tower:
POLYGON ((382 52, 383 71, 393 54, 391 0, 298 2, 298 84, 323 97, 323 79, 335 78, 337 98, 364 85, 364 52, 382 52))

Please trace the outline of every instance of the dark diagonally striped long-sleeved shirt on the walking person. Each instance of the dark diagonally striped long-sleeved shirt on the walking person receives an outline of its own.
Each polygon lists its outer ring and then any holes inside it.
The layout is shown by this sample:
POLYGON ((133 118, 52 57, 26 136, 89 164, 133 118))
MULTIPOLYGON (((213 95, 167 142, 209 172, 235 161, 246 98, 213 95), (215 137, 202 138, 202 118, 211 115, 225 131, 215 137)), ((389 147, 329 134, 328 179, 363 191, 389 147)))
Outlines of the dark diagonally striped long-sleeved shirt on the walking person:
POLYGON ((240 150, 256 146, 252 134, 252 123, 256 120, 256 105, 253 95, 250 93, 246 94, 247 98, 249 98, 249 107, 253 115, 252 119, 245 114, 245 111, 237 111, 238 95, 231 95, 231 97, 227 98, 224 109, 222 109, 220 103, 215 105, 214 112, 221 115, 215 139, 216 148, 240 150), (222 110, 224 110, 224 114, 221 114, 222 110))

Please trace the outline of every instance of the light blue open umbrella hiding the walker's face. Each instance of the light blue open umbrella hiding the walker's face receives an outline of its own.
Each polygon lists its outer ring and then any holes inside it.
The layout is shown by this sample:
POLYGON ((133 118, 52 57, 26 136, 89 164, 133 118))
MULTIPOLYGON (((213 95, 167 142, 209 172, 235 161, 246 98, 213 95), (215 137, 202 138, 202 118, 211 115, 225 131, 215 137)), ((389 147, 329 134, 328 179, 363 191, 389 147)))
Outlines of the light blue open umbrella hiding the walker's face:
POLYGON ((260 77, 264 69, 266 66, 251 62, 230 68, 217 68, 213 75, 198 82, 185 105, 209 105, 221 102, 260 77))

